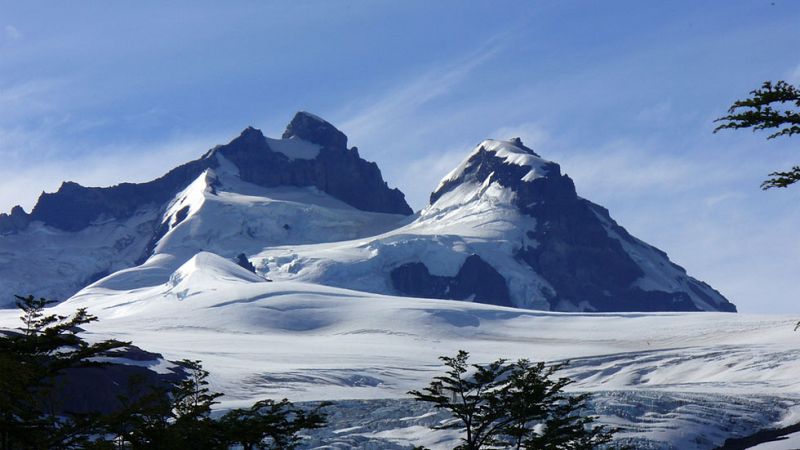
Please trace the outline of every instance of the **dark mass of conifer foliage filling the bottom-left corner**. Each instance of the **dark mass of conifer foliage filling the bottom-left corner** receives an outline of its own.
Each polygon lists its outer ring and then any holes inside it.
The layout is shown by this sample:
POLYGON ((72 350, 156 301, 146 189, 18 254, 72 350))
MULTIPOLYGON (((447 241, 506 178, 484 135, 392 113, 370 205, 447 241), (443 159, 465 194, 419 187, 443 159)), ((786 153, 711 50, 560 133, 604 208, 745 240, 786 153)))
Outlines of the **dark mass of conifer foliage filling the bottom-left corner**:
POLYGON ((23 325, 0 330, 0 450, 296 448, 304 429, 326 423, 322 403, 303 409, 284 399, 262 400, 219 419, 212 407, 223 394, 209 387, 200 361, 178 361, 173 381, 134 374, 114 411, 74 413, 62 402, 67 370, 111 364, 130 343, 87 343, 80 326, 97 320, 86 310, 46 314, 45 299, 18 297, 23 325), (105 362, 98 362, 105 361, 105 362))

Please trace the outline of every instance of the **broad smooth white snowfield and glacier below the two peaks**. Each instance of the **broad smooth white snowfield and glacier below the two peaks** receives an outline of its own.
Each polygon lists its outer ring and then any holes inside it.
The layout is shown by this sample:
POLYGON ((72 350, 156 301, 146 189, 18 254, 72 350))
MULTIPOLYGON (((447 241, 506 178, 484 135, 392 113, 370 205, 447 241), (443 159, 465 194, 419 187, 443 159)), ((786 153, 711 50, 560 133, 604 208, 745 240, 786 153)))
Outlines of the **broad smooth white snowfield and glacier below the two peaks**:
MULTIPOLYGON (((264 397, 341 401, 309 447, 451 448, 456 433, 427 429, 444 416, 406 392, 458 349, 474 362, 571 361, 572 389, 595 393, 593 410, 637 448, 714 448, 800 411, 792 318, 551 313, 391 297, 268 282, 208 252, 166 282, 113 284, 96 283, 54 309, 87 307, 100 318, 88 327, 92 339, 202 360, 226 394, 222 408, 264 397)), ((0 312, 0 325, 16 322, 16 312, 0 312)))

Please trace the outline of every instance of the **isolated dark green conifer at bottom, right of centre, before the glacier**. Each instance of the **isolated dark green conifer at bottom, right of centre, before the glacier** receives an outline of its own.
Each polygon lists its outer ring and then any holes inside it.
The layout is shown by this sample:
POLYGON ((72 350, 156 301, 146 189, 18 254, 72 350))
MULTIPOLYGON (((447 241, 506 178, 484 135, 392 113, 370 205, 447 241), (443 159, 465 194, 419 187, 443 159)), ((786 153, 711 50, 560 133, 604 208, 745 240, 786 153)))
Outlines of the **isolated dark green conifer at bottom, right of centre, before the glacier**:
POLYGON ((564 393, 572 381, 554 377, 562 365, 525 359, 469 364, 463 350, 440 359, 445 374, 409 394, 452 414, 453 420, 437 428, 463 430, 457 450, 582 450, 611 441, 613 430, 581 414, 586 396, 564 393))

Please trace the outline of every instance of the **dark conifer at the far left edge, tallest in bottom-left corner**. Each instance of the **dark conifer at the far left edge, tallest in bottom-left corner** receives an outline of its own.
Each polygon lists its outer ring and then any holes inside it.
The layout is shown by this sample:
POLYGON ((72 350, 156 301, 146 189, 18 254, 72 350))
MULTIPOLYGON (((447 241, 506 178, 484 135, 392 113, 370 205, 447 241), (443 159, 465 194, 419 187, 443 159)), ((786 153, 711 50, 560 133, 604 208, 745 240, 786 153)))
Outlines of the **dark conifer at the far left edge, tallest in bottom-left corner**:
POLYGON ((23 325, 0 335, 0 448, 83 448, 102 434, 99 415, 66 410, 58 389, 68 370, 100 366, 93 359, 128 345, 86 342, 81 326, 97 320, 85 309, 46 314, 52 302, 17 296, 23 325))

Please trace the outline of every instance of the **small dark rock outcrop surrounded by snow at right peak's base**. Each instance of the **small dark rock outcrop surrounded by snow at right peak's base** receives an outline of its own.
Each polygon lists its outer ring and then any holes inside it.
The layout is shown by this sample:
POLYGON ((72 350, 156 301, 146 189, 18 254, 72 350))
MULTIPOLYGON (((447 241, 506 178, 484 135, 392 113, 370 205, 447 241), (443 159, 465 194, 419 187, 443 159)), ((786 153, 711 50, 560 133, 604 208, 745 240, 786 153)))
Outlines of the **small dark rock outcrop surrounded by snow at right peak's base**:
POLYGON ((413 262, 394 268, 391 279, 403 295, 513 306, 505 278, 478 255, 467 257, 454 277, 431 275, 425 264, 413 262))

